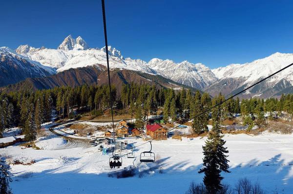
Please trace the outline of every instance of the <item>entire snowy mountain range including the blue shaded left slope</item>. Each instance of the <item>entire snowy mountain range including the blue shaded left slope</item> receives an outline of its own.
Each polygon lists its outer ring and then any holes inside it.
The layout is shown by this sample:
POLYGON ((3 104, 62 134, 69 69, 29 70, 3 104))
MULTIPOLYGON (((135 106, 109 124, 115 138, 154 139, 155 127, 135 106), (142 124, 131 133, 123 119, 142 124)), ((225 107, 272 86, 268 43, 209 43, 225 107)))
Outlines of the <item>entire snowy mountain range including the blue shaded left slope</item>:
MULTIPOLYGON (((293 63, 293 54, 274 53, 266 58, 258 59, 250 63, 231 64, 227 67, 211 70, 201 63, 193 64, 188 61, 175 63, 169 59, 162 60, 154 58, 146 62, 141 59, 125 58, 120 51, 111 46, 108 47, 108 51, 110 54, 109 64, 113 72, 119 71, 120 73, 125 73, 129 71, 132 73, 136 72, 136 74, 140 76, 142 73, 144 76, 147 74, 161 76, 166 78, 165 81, 171 80, 173 84, 176 83, 176 87, 181 85, 182 87, 196 88, 207 91, 211 95, 216 95, 221 92, 226 96, 238 92, 272 74, 274 71, 293 63)), ((71 35, 67 36, 57 49, 48 49, 45 47, 34 48, 29 45, 21 45, 15 51, 12 51, 7 47, 1 47, 0 59, 1 75, 2 72, 6 73, 6 76, 0 76, 0 86, 15 84, 21 80, 23 81, 25 78, 31 78, 29 79, 30 81, 40 81, 40 79, 47 80, 43 79, 43 77, 49 76, 50 79, 53 79, 57 76, 58 79, 61 79, 60 77, 62 77, 62 75, 65 76, 65 74, 70 74, 69 72, 71 72, 73 77, 77 75, 74 73, 72 74, 72 72, 79 72, 81 75, 83 74, 82 71, 84 71, 84 75, 86 75, 85 71, 93 71, 93 69, 104 72, 106 66, 105 47, 101 49, 89 48, 82 37, 78 36, 74 39, 71 35), (9 66, 9 68, 7 68, 7 66, 9 66), (12 71, 14 70, 13 68, 21 69, 23 75, 20 75, 20 71, 16 71, 16 76, 14 76, 15 73, 12 71), (10 71, 7 71, 7 69, 10 71), (12 77, 18 77, 18 79, 6 79, 9 74, 11 76, 13 75, 12 77)), ((95 74, 97 76, 103 75, 103 73, 95 74)), ((73 77, 71 77, 72 80, 78 80, 73 77)), ((96 78, 100 79, 101 77, 93 77, 93 79, 96 78)), ((153 81, 153 79, 154 77, 151 78, 151 81, 153 81)), ((128 81, 130 80, 131 79, 128 81)), ((87 83, 87 81, 85 81, 85 83, 87 83)), ((100 83, 97 80, 94 82, 96 84, 100 83)), ((23 83, 24 82, 22 82, 22 84, 23 83)), ((47 83, 47 81, 45 83, 47 83)), ((84 82, 76 82, 72 84, 72 86, 81 83, 84 82)), ((61 83, 53 85, 58 86, 60 84, 61 83)), ((53 87, 53 85, 45 84, 43 88, 53 87)), ((66 82, 61 85, 66 85, 66 82)), ((67 83, 67 85, 70 84, 67 83)), ((33 88, 42 87, 39 83, 38 86, 34 86, 33 88)), ((292 88, 293 68, 276 74, 269 80, 251 88, 249 91, 242 94, 241 97, 268 98, 271 96, 278 96, 283 92, 292 92, 292 88)))

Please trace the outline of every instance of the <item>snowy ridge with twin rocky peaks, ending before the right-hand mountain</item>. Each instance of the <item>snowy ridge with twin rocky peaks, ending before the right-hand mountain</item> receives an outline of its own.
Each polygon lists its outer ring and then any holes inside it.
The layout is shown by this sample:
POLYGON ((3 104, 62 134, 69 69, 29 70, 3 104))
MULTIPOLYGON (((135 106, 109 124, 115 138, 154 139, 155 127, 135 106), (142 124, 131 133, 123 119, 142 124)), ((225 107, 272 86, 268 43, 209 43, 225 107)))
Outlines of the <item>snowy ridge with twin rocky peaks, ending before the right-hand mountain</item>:
MULTIPOLYGON (((88 48, 79 36, 74 39, 67 36, 58 49, 35 49, 28 45, 20 46, 16 51, 44 66, 56 68, 58 72, 70 68, 81 68, 92 65, 105 65, 105 47, 88 48)), ((203 89, 217 80, 212 71, 203 64, 192 64, 188 61, 175 63, 171 60, 152 59, 149 62, 141 59, 124 58, 120 51, 108 47, 111 69, 126 69, 159 74, 175 82, 203 89)))

